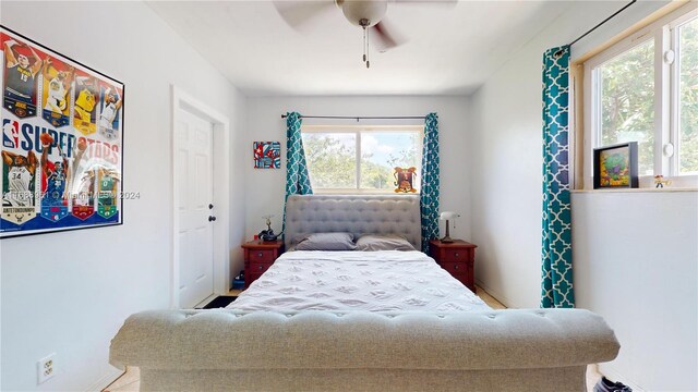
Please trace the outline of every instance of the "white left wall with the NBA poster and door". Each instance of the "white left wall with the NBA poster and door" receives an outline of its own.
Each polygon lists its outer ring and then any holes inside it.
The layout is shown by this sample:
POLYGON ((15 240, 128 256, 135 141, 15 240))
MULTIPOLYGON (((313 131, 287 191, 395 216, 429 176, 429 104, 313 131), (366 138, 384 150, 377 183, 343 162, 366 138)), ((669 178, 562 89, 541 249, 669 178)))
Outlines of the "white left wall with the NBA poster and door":
MULTIPOLYGON (((1 389, 95 390, 113 375, 109 341, 127 316, 169 306, 170 84, 229 115, 233 145, 244 98, 143 3, 1 7, 3 25, 127 86, 124 191, 141 199, 124 201, 124 224, 0 243, 1 389), (37 387, 36 362, 50 353, 58 375, 37 387)), ((240 163, 231 160, 231 173, 240 163)), ((231 198, 231 254, 239 257, 243 199, 231 198)))

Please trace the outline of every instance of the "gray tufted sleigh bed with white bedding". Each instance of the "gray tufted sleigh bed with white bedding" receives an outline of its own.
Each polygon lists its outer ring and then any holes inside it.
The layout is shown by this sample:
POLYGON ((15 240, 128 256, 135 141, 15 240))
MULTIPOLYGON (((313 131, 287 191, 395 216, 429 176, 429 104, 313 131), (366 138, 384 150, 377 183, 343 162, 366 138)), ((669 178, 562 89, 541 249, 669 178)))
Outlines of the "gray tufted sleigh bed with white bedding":
POLYGON ((287 252, 229 308, 129 317, 110 363, 144 391, 583 391, 615 358, 590 311, 490 309, 419 252, 419 221, 413 195, 291 196, 287 249, 348 233, 417 250, 287 252))

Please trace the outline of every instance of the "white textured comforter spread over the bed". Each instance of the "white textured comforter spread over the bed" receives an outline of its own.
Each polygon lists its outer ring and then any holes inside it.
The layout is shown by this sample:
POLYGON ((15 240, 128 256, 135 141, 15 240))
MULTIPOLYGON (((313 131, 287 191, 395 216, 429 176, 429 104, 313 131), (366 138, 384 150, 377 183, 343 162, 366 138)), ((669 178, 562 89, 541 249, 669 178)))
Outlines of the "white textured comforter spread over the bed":
POLYGON ((239 310, 490 309, 421 252, 289 252, 228 305, 239 310))

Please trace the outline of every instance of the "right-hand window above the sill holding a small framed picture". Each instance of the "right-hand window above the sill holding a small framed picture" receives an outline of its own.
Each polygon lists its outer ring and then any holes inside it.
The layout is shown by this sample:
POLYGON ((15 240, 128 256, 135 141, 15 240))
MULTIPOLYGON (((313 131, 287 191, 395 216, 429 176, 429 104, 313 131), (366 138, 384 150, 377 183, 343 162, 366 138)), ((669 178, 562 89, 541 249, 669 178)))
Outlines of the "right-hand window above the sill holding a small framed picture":
POLYGON ((587 184, 591 150, 625 142, 638 143, 640 186, 654 174, 698 183, 698 11, 685 7, 597 54, 585 86, 587 184))

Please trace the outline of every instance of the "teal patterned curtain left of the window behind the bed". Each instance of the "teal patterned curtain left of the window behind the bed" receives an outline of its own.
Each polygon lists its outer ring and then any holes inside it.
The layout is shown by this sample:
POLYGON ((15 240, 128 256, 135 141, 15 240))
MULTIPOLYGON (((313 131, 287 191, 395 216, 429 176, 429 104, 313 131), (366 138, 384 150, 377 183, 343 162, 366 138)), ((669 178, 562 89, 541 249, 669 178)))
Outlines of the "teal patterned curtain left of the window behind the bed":
POLYGON ((303 138, 301 137, 301 115, 286 113, 286 198, 284 204, 284 229, 286 230, 286 199, 289 195, 312 195, 313 187, 308 175, 303 138))

